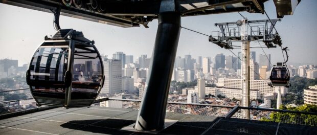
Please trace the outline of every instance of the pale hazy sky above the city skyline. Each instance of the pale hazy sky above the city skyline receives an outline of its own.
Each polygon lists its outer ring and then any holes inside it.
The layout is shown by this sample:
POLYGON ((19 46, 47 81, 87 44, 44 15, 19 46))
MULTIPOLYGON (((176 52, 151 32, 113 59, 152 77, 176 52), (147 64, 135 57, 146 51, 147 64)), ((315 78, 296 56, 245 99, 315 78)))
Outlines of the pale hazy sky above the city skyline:
MULTIPOLYGON (((270 18, 276 18, 273 1, 264 4, 270 18)), ((284 47, 290 49, 289 61, 299 63, 317 63, 317 1, 302 1, 295 10, 295 14, 284 16, 277 22, 276 29, 282 37, 284 47)), ((241 12, 249 20, 267 19, 265 14, 241 12)), ((238 13, 215 14, 205 16, 183 17, 182 26, 210 35, 211 31, 219 31, 216 22, 236 21, 242 19, 238 13)), ((96 47, 101 54, 112 56, 115 52, 133 55, 134 60, 141 54, 151 57, 157 20, 149 23, 148 29, 143 26, 137 28, 120 28, 97 22, 60 17, 62 29, 82 31, 88 39, 95 40, 96 47)), ((5 4, 0 4, 0 59, 18 59, 19 65, 28 63, 36 48, 44 40, 45 35, 53 35, 53 14, 30 10, 5 4)), ((263 44, 261 42, 261 44, 263 44)), ((240 45, 240 43, 235 43, 240 45)), ((258 45, 252 42, 251 46, 258 45)), ((238 54, 241 49, 233 52, 238 54)), ((262 49, 251 49, 258 55, 262 49)), ((272 62, 283 61, 280 48, 267 49, 272 62)), ((184 57, 191 54, 197 56, 214 57, 217 53, 232 55, 229 50, 222 49, 208 41, 207 36, 182 29, 178 42, 177 56, 184 57)))

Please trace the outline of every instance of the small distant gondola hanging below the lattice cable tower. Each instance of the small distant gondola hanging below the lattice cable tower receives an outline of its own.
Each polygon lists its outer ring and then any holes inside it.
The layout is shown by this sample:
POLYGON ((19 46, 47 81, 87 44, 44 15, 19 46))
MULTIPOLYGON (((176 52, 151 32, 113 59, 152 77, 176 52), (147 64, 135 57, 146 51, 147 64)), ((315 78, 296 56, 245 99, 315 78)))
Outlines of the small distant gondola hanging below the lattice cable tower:
POLYGON ((269 79, 273 86, 289 86, 289 78, 288 68, 282 62, 272 67, 269 79))

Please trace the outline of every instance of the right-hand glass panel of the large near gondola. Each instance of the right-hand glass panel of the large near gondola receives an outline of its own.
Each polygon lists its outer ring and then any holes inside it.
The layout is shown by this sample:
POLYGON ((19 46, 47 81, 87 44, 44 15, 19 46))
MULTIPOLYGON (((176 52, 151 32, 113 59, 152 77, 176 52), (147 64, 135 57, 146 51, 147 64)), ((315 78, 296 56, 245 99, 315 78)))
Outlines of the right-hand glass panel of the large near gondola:
POLYGON ((96 49, 76 42, 71 99, 80 101, 72 104, 92 102, 99 93, 102 79, 102 65, 96 49))

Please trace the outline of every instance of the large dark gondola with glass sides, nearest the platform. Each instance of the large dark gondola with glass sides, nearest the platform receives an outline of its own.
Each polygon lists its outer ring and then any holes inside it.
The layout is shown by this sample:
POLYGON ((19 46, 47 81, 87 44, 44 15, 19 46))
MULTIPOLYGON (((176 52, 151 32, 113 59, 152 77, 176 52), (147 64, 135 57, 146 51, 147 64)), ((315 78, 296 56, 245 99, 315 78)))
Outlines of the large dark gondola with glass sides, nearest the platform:
POLYGON ((27 83, 37 105, 90 106, 104 83, 94 41, 73 29, 46 36, 31 59, 27 83))

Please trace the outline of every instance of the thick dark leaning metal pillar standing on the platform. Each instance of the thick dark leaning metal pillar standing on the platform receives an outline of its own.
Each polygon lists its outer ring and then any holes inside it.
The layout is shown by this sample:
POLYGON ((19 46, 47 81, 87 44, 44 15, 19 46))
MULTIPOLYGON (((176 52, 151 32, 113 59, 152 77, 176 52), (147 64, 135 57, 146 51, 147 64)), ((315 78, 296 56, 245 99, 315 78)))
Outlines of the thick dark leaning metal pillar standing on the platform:
POLYGON ((168 92, 180 33, 180 14, 159 14, 147 86, 134 129, 160 130, 164 128, 168 92))

